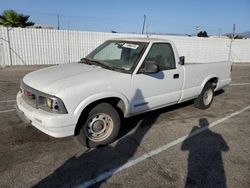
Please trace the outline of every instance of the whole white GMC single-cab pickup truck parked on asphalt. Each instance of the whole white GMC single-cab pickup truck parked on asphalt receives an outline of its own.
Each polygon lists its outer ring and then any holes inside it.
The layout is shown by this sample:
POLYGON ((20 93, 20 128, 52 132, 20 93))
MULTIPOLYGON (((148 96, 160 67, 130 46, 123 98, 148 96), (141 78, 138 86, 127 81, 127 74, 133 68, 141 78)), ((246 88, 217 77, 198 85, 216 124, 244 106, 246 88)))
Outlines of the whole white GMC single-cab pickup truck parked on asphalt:
POLYGON ((27 74, 16 112, 50 136, 77 135, 96 147, 115 140, 123 117, 191 99, 208 108, 214 91, 230 84, 231 65, 184 64, 168 40, 112 39, 77 63, 27 74))

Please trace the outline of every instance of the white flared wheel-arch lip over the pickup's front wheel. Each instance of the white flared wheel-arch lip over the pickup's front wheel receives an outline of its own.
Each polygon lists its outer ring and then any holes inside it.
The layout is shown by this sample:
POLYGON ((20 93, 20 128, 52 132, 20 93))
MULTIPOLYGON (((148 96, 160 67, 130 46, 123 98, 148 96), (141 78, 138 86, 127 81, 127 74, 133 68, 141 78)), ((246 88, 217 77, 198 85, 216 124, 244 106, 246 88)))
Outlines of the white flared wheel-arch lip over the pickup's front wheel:
POLYGON ((74 115, 80 117, 82 111, 91 103, 97 101, 97 100, 101 100, 101 99, 105 99, 105 98, 110 98, 110 97, 116 97, 121 99, 124 104, 125 104, 125 112, 124 112, 124 116, 126 116, 129 112, 129 101, 128 98, 118 92, 102 92, 102 93, 97 93, 95 95, 91 95, 87 98, 85 98, 84 100, 82 100, 82 102, 76 107, 75 111, 74 111, 74 115))

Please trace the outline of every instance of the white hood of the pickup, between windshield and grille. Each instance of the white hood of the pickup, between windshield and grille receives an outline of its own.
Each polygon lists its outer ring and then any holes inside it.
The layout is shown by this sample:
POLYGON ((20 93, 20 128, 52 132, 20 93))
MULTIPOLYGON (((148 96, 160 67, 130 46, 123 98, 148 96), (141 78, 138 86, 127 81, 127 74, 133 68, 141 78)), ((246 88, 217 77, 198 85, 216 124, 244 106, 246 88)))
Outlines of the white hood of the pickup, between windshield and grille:
POLYGON ((72 86, 90 84, 93 81, 104 82, 118 74, 121 73, 99 66, 72 63, 31 72, 23 78, 23 82, 38 91, 56 95, 72 86))

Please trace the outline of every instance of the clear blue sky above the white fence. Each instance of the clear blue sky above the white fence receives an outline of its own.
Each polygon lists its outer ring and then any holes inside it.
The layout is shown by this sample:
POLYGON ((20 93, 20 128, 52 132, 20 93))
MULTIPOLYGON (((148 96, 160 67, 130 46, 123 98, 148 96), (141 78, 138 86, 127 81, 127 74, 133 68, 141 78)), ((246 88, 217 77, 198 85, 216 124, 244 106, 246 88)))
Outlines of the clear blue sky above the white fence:
POLYGON ((60 29, 141 33, 144 15, 150 33, 209 35, 250 31, 250 0, 0 0, 30 20, 60 29))

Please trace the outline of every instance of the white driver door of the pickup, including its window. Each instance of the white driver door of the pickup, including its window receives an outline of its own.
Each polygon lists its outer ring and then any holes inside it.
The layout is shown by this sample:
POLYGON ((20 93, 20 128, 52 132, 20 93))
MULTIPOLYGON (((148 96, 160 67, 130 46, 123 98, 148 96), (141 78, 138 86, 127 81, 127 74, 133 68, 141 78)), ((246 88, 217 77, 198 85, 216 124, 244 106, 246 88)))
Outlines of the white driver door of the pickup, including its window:
POLYGON ((176 67, 171 44, 154 43, 139 72, 131 80, 132 114, 175 104, 181 97, 183 69, 176 67), (158 71, 144 72, 146 63, 155 63, 158 71))

